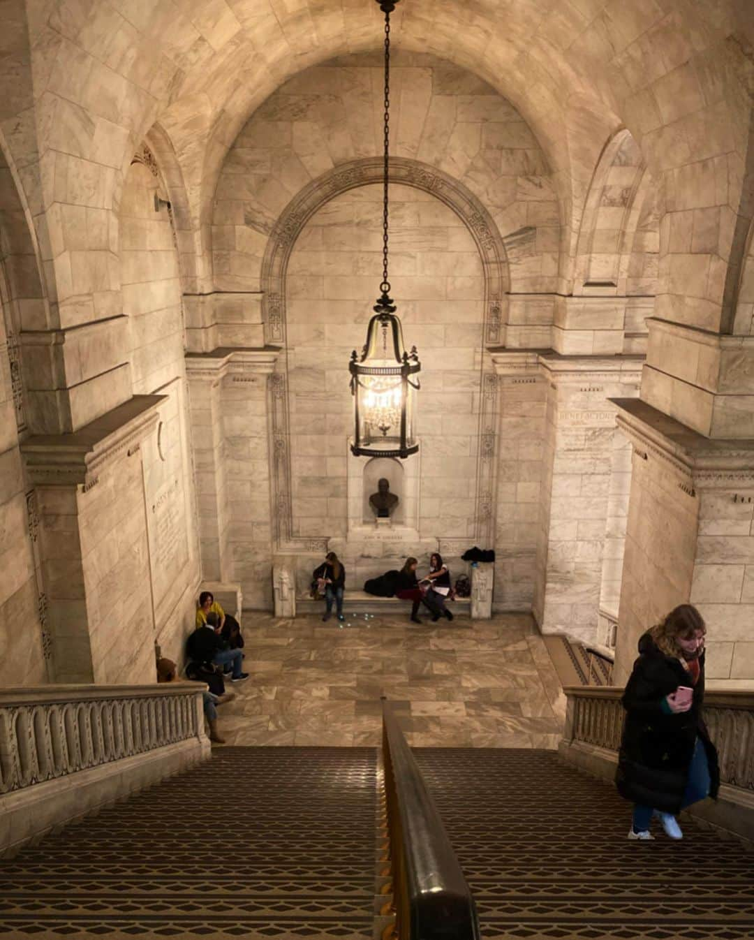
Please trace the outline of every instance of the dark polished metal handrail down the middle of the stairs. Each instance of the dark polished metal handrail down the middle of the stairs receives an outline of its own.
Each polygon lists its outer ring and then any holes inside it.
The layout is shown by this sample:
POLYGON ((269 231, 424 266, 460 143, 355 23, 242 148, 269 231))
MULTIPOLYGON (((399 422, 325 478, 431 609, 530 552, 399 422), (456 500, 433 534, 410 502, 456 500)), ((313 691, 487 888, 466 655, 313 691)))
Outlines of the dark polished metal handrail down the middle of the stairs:
POLYGON ((398 940, 479 940, 474 898, 385 698, 383 754, 398 940))

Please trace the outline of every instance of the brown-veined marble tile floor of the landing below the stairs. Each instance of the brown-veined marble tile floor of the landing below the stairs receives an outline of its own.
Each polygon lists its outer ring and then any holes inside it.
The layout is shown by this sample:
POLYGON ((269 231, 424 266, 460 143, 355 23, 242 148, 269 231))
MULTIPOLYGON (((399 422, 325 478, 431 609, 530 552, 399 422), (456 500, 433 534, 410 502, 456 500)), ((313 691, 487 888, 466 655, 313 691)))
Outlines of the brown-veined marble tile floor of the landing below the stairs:
POLYGON ((565 697, 528 615, 416 625, 246 612, 247 682, 219 709, 227 744, 377 745, 381 702, 409 744, 558 745, 565 697))

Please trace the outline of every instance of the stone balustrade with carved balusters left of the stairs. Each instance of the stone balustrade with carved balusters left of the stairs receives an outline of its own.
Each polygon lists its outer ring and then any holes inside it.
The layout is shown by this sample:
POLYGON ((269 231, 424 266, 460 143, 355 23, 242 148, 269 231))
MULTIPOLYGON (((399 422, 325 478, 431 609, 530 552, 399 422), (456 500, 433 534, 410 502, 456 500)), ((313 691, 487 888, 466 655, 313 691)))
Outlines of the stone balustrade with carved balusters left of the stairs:
POLYGON ((204 688, 0 690, 0 854, 209 756, 204 688))

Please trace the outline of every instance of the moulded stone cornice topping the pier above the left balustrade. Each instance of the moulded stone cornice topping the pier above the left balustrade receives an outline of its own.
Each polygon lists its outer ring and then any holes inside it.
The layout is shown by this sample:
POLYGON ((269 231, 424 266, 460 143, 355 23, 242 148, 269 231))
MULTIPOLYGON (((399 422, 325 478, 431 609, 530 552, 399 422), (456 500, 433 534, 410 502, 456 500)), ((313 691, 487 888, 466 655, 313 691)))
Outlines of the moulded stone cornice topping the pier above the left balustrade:
POLYGON ((21 444, 35 486, 83 486, 90 490, 111 462, 138 451, 157 427, 165 395, 134 395, 71 434, 37 434, 21 444))

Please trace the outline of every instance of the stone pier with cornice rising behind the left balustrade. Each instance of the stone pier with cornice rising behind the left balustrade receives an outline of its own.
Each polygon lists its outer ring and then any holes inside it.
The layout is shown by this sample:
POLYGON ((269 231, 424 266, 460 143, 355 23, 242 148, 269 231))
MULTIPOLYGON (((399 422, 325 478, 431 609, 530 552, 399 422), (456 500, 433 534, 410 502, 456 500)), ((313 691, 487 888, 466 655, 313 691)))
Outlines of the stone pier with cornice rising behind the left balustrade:
POLYGON ((163 396, 26 438, 56 682, 150 682, 154 624, 140 448, 163 396))

